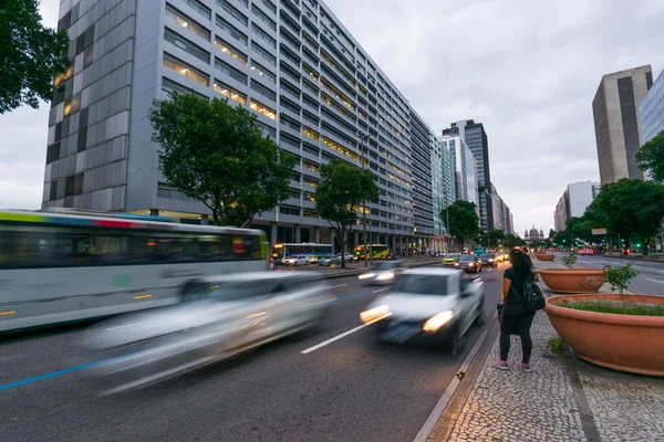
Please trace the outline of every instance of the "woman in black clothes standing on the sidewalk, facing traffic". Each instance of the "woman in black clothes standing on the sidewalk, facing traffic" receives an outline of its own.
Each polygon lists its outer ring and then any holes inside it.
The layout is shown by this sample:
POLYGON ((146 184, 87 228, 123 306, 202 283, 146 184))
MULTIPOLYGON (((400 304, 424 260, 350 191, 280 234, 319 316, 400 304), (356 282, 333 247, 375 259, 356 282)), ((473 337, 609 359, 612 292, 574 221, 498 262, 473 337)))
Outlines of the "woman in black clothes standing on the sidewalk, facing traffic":
POLYGON ((526 312, 518 296, 523 295, 523 283, 532 277, 532 265, 528 256, 520 250, 509 253, 511 267, 505 271, 502 276, 502 312, 500 313, 500 359, 494 367, 507 370, 507 356, 509 354, 510 335, 518 334, 521 338, 521 368, 523 371, 532 371, 530 367, 530 352, 532 351, 532 339, 530 338, 530 326, 535 313, 526 312))

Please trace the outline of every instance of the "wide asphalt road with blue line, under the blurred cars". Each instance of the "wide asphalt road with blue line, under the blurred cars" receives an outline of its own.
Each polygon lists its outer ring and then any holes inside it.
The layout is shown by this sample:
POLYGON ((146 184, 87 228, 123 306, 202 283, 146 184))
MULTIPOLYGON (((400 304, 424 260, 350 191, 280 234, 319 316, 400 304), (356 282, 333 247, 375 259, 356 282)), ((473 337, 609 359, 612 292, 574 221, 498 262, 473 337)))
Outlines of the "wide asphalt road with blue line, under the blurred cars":
MULTIPOLYGON (((481 273, 488 318, 507 265, 481 273)), ((302 354, 362 325, 376 296, 356 277, 330 284, 338 301, 318 330, 120 396, 85 376, 95 357, 76 345, 84 327, 2 337, 0 440, 413 441, 481 330, 456 358, 382 344, 375 325, 302 354)))

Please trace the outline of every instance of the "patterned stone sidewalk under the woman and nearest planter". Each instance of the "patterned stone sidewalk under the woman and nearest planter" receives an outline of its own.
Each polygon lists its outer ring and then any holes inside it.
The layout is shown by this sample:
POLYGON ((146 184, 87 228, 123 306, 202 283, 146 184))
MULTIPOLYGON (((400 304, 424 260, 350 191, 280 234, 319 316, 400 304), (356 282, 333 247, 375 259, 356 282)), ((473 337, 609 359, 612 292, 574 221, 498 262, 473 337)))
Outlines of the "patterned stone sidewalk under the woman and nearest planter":
MULTIPOLYGON (((560 266, 543 264, 536 265, 560 266)), ((499 336, 486 360, 476 360, 480 372, 467 398, 461 398, 458 414, 447 417, 454 422, 447 441, 664 442, 664 378, 595 367, 568 346, 562 355, 554 354, 549 340, 558 335, 544 312, 536 314, 531 336, 530 373, 520 369, 517 336, 511 337, 509 370, 492 367, 499 336)))

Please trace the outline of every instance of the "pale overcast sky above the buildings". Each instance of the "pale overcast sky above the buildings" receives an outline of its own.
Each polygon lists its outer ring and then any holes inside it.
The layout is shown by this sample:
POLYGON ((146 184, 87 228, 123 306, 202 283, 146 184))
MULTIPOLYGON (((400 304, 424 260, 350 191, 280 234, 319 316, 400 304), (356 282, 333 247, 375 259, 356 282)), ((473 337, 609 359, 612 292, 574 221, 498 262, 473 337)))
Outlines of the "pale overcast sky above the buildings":
MULTIPOLYGON (((55 27, 58 0, 42 0, 55 27)), ((599 181, 591 102, 603 74, 664 69, 664 1, 326 0, 436 133, 485 125, 517 233, 548 233, 569 182, 599 181)), ((0 208, 41 207, 48 108, 0 116, 0 208)))

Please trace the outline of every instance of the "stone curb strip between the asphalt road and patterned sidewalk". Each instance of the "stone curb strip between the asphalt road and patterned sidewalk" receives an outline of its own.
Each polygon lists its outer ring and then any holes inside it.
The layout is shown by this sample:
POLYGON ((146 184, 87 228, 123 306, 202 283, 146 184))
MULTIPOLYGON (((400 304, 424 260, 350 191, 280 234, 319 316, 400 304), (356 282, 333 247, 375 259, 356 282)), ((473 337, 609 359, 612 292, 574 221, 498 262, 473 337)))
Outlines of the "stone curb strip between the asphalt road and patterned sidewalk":
POLYGON ((449 382, 445 393, 443 393, 443 397, 415 436, 414 442, 447 441, 449 439, 466 404, 468 394, 491 352, 498 332, 499 323, 498 313, 496 312, 466 359, 464 359, 457 376, 449 382))

